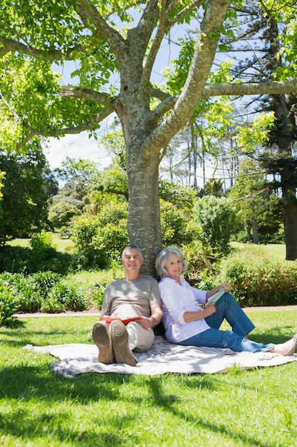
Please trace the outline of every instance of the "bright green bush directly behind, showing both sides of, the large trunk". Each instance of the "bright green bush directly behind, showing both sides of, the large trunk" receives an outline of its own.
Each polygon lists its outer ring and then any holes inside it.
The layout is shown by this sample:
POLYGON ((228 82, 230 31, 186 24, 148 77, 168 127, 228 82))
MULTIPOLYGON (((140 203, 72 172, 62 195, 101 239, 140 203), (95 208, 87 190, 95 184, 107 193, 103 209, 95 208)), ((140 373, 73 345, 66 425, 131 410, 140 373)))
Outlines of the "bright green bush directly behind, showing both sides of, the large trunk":
MULTIPOLYGON (((161 228, 165 246, 189 243, 197 237, 197 224, 170 202, 161 200, 161 228)), ((71 228, 73 268, 109 268, 119 261, 129 243, 127 202, 101 206, 99 214, 83 214, 71 228)))

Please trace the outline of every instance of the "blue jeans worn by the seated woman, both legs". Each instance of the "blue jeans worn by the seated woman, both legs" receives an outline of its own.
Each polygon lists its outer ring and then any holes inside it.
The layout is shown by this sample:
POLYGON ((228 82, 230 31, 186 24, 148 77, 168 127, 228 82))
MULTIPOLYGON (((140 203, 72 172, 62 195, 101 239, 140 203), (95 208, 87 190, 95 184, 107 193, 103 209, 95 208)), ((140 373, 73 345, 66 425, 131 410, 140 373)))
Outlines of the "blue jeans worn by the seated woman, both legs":
POLYGON ((209 348, 229 348, 232 351, 241 352, 266 352, 270 351, 274 344, 256 343, 256 341, 246 340, 244 336, 251 332, 255 326, 248 316, 235 301, 231 293, 224 293, 216 303, 217 311, 205 318, 211 327, 207 331, 197 333, 197 335, 180 341, 183 346, 207 346, 209 348), (219 327, 226 319, 232 331, 220 331, 219 327))

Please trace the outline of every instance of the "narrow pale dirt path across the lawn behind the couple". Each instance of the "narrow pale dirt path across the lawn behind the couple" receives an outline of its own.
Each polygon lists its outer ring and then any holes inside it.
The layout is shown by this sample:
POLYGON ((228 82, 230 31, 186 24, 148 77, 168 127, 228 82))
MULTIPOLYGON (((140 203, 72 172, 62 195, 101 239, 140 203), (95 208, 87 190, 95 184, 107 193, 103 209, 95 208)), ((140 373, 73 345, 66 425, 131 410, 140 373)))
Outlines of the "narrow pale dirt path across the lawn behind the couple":
MULTIPOLYGON (((263 307, 244 307, 246 313, 255 311, 297 311, 296 306, 263 306, 263 307)), ((84 312, 63 312, 63 313, 15 313, 16 318, 40 318, 40 317, 63 317, 63 316, 98 316, 100 315, 99 309, 90 308, 84 312)))

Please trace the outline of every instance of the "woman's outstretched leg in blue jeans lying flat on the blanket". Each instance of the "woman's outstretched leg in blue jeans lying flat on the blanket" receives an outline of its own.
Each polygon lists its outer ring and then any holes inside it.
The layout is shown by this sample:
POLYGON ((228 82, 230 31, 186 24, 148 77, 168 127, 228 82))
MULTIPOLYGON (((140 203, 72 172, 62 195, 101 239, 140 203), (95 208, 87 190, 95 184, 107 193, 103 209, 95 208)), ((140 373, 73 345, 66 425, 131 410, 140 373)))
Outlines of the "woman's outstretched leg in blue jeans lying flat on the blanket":
POLYGON ((202 333, 180 341, 183 346, 207 346, 209 348, 229 348, 232 351, 241 352, 266 352, 274 348, 273 343, 265 345, 256 341, 246 340, 232 331, 219 331, 219 329, 207 329, 202 333))

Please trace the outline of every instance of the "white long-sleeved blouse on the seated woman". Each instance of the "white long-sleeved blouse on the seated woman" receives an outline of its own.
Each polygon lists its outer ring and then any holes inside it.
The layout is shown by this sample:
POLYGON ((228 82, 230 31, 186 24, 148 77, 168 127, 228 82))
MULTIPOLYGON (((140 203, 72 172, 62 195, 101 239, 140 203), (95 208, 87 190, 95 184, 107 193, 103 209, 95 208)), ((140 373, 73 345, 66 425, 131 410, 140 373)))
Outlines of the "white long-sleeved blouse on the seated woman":
POLYGON ((172 278, 162 278, 159 288, 163 311, 162 322, 168 341, 178 343, 209 329, 204 318, 189 323, 184 321, 185 312, 202 310, 199 303, 206 303, 207 291, 190 286, 184 278, 180 278, 180 284, 172 278))

